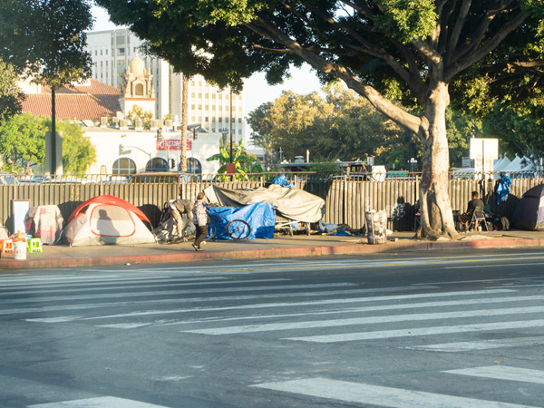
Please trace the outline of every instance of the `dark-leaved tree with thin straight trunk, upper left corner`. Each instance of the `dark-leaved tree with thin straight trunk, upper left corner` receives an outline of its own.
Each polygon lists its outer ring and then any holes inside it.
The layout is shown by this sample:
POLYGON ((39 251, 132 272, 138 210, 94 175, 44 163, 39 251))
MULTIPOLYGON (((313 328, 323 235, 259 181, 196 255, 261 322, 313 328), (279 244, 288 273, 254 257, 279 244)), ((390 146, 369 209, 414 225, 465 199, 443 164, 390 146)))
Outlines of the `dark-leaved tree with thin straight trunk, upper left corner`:
MULTIPOLYGON (((3 0, 0 15, 0 57, 51 88, 54 135, 56 90, 92 73, 84 49, 85 30, 92 28, 90 0, 3 0)), ((50 154, 56 157, 54 137, 50 154)))

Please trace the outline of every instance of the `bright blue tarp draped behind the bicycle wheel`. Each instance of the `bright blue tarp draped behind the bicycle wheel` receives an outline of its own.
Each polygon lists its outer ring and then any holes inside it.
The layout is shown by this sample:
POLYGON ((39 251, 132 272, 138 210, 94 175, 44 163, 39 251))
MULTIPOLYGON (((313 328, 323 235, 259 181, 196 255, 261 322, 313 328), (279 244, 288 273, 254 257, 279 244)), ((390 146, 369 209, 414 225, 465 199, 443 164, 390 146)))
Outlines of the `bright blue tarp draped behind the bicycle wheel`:
POLYGON ((267 202, 249 204, 240 209, 235 207, 209 207, 209 219, 218 227, 217 239, 231 239, 227 234, 227 224, 233 219, 242 219, 251 227, 248 239, 274 238, 276 211, 267 202))

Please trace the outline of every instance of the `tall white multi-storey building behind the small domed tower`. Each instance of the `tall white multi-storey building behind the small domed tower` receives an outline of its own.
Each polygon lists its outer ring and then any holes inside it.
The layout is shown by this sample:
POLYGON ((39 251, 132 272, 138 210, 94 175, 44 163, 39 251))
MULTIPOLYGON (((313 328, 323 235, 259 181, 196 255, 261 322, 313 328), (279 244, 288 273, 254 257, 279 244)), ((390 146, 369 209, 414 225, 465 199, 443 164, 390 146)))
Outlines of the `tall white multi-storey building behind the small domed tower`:
MULTIPOLYGON (((87 51, 92 56, 92 78, 124 92, 125 75, 131 61, 140 56, 144 68, 152 75, 156 117, 165 119, 170 114, 176 125, 181 118, 182 74, 174 73, 170 63, 143 55, 140 50, 141 43, 127 28, 87 33, 87 51)), ((218 139, 221 130, 230 131, 232 115, 233 140, 238 142, 243 139, 247 145, 243 92, 237 95, 230 94, 229 89, 220 91, 217 86, 210 85, 202 76, 197 75, 189 81, 188 111, 189 125, 199 123, 212 134, 216 134, 218 139)))

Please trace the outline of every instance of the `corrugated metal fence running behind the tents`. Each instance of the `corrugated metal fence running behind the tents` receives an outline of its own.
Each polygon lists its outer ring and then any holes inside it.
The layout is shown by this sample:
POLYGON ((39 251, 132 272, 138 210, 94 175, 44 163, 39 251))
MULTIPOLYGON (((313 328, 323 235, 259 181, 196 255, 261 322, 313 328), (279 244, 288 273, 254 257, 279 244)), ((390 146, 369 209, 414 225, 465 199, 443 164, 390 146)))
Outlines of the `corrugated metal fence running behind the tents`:
MULTIPOLYGON (((13 231, 13 201, 28 200, 30 207, 57 205, 68 219, 79 204, 102 194, 125 199, 139 207, 157 226, 160 211, 170 199, 196 199, 197 194, 211 184, 227 189, 255 189, 267 186, 277 174, 251 174, 239 180, 234 176, 195 176, 175 173, 139 174, 137 177, 86 176, 83 178, 56 178, 54 180, 24 180, 0 185, 0 222, 13 231)), ((388 228, 411 230, 414 209, 419 198, 420 174, 377 179, 372 174, 323 176, 317 173, 287 173, 287 180, 325 199, 324 221, 347 224, 351 228, 364 227, 366 211, 385 210, 388 228)), ((544 182, 542 178, 512 177, 507 201, 497 204, 494 193, 498 180, 488 175, 486 180, 451 178, 450 199, 453 210, 463 211, 471 199, 471 191, 481 194, 491 211, 511 218, 523 193, 544 182)))

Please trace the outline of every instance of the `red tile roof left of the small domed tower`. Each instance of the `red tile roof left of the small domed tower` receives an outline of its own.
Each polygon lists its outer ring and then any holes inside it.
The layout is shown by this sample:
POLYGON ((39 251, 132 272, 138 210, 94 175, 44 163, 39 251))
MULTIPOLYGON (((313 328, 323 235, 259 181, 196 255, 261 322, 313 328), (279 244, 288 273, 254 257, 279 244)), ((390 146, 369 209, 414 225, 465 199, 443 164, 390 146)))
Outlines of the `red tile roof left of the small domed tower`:
MULTIPOLYGON (((96 121, 102 116, 115 116, 121 111, 120 97, 119 89, 95 80, 90 86, 63 87, 55 92, 56 117, 96 121)), ((27 94, 23 112, 51 117, 51 89, 42 86, 41 93, 27 94)))

